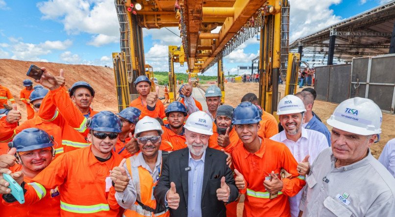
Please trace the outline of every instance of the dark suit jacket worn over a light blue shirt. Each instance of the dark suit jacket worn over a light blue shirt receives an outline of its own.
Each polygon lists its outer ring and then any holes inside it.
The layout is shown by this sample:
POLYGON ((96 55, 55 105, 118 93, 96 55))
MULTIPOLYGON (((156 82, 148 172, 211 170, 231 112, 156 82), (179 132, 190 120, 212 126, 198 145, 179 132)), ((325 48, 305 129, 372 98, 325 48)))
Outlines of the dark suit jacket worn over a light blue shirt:
MULTIPOLYGON (((164 162, 162 174, 155 187, 154 196, 157 202, 165 205, 165 196, 174 182, 176 192, 180 195, 180 203, 176 210, 170 209, 171 216, 188 216, 188 157, 189 149, 173 151, 164 162)), ((204 174, 201 193, 201 214, 203 217, 226 217, 224 202, 217 198, 217 189, 221 187, 221 178, 230 188, 229 202, 236 200, 238 189, 235 185, 232 170, 226 165, 226 154, 207 147, 204 159, 204 174)))

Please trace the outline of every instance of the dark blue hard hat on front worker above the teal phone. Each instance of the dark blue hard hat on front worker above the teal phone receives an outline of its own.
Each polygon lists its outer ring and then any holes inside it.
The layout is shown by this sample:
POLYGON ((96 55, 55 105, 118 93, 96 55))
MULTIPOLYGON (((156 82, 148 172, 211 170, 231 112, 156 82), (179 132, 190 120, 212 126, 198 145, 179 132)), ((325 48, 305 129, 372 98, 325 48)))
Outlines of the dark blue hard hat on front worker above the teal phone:
POLYGON ((15 147, 17 151, 31 151, 53 146, 53 138, 44 130, 26 128, 8 146, 15 147))

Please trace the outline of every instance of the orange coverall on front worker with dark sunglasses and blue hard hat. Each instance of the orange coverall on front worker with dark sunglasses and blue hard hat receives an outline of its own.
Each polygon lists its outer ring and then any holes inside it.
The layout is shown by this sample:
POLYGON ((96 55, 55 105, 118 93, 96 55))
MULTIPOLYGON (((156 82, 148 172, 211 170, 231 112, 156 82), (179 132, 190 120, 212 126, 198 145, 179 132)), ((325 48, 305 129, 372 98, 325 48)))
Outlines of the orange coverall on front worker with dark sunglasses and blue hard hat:
POLYGON ((114 151, 111 153, 105 162, 95 157, 91 146, 60 155, 25 185, 25 204, 37 203, 47 190, 59 186, 60 216, 118 216, 119 205, 114 203, 115 198, 108 197, 109 191, 113 191, 109 188, 109 176, 122 157, 114 151))

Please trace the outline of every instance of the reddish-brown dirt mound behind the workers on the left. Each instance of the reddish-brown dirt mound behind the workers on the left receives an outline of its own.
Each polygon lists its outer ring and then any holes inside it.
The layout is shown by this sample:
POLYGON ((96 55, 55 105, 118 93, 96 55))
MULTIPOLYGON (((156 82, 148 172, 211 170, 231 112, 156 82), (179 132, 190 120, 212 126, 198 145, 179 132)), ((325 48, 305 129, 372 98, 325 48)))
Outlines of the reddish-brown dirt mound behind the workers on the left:
POLYGON ((26 72, 31 64, 38 67, 46 67, 51 74, 55 75, 59 73, 60 69, 64 69, 67 88, 70 88, 76 81, 88 82, 96 92, 92 103, 93 109, 96 111, 109 110, 118 112, 114 71, 112 68, 0 59, 0 83, 10 89, 15 101, 18 103, 19 110, 23 114, 22 121, 26 120, 26 108, 19 96, 24 88, 22 81, 30 78, 26 76, 26 72))

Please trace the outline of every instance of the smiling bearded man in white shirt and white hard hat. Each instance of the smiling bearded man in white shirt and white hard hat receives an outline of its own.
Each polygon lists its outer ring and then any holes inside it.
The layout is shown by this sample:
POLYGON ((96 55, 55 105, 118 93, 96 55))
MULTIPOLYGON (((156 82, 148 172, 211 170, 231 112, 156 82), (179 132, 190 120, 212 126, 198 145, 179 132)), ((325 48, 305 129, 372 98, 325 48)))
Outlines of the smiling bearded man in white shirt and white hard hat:
MULTIPOLYGON (((284 143, 294 155, 298 163, 297 171, 299 178, 304 179, 310 170, 310 164, 318 154, 329 147, 324 134, 302 127, 305 120, 306 109, 303 101, 294 95, 287 95, 280 100, 277 107, 277 115, 284 130, 272 136, 272 140, 284 143)), ((303 191, 289 198, 291 216, 299 214, 299 201, 303 191)))

